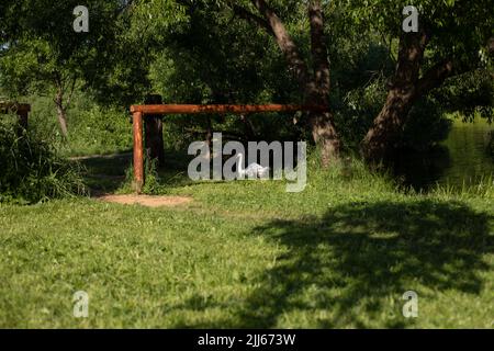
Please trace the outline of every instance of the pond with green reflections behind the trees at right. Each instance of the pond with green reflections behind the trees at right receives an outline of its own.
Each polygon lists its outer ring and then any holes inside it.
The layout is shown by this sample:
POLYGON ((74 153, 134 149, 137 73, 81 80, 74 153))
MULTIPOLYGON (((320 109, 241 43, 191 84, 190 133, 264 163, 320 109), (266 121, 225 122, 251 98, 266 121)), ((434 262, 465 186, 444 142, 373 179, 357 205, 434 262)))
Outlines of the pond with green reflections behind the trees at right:
POLYGON ((487 146, 494 124, 483 118, 454 120, 448 138, 426 155, 401 155, 395 173, 404 184, 428 190, 437 183, 461 188, 494 180, 494 157, 487 146))

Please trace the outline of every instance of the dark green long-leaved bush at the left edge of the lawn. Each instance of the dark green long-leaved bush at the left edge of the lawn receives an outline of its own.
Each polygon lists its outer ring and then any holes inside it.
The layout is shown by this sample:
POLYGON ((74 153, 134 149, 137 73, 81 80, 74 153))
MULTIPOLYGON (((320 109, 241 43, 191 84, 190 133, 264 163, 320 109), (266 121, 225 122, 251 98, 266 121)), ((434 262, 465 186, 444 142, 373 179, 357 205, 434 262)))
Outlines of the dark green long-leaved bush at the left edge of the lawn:
POLYGON ((86 193, 80 166, 15 123, 0 122, 0 202, 36 203, 86 193))

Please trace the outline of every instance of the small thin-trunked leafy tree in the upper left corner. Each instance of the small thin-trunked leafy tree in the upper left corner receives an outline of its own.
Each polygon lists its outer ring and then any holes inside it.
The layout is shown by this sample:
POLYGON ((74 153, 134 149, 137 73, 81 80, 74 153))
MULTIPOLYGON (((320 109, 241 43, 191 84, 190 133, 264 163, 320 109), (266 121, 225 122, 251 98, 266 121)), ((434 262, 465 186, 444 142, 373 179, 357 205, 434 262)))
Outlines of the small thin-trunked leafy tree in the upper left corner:
POLYGON ((80 1, 2 1, 0 33, 1 84, 10 94, 53 94, 60 131, 67 136, 67 110, 78 84, 83 83, 98 50, 112 39, 112 23, 121 1, 86 1, 89 32, 76 32, 74 10, 80 1))

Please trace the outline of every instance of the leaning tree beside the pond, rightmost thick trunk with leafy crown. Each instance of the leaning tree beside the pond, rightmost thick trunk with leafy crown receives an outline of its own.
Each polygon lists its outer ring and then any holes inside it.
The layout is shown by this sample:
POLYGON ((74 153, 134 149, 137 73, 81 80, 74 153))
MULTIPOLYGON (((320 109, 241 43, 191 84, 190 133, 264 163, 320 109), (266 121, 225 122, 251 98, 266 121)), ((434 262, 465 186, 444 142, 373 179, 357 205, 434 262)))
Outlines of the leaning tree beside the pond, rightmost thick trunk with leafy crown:
POLYGON ((377 162, 390 155, 414 103, 445 81, 481 65, 479 50, 493 36, 492 0, 413 1, 419 12, 417 32, 402 30, 409 1, 350 1, 356 21, 398 41, 395 73, 388 98, 362 141, 362 155, 377 162))

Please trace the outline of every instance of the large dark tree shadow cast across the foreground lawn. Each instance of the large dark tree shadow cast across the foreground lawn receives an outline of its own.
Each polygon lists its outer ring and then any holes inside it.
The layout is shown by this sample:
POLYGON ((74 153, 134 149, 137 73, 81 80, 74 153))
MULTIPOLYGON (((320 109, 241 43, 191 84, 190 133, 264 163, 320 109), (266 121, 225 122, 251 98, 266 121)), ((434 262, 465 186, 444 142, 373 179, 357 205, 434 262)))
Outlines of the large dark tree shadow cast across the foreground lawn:
POLYGON ((302 312, 318 328, 371 327, 373 318, 404 327, 406 291, 480 293, 479 273, 490 269, 483 256, 494 252, 492 219, 459 202, 424 200, 349 203, 322 218, 272 222, 256 234, 284 254, 222 325, 270 328, 302 312))

